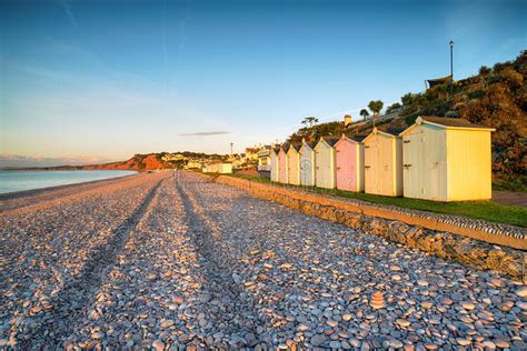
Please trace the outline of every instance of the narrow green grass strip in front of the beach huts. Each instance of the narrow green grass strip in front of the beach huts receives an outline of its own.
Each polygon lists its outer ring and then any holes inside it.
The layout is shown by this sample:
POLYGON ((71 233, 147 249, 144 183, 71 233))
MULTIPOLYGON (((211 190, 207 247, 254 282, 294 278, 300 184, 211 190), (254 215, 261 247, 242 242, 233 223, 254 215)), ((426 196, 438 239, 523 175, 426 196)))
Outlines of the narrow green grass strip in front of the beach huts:
POLYGON ((397 205, 400 208, 429 211, 436 213, 457 214, 467 218, 481 219, 494 223, 506 223, 519 227, 527 227, 527 208, 509 204, 500 204, 493 201, 465 201, 465 202, 436 202, 428 200, 391 198, 372 195, 364 192, 351 192, 342 190, 327 190, 315 187, 297 187, 271 182, 269 179, 246 174, 223 174, 235 178, 242 178, 262 183, 272 183, 280 187, 298 188, 305 191, 332 194, 342 198, 351 198, 368 201, 371 203, 397 205))

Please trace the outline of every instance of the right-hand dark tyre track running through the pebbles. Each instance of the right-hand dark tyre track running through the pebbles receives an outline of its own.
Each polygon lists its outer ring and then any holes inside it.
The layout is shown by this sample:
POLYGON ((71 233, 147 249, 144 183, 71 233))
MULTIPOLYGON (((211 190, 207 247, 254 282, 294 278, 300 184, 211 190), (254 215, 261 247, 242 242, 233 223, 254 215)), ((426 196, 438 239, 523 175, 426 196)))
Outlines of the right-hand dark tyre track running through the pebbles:
MULTIPOLYGON (((206 269, 209 291, 203 291, 200 301, 205 304, 211 300, 226 302, 231 309, 228 315, 219 317, 217 324, 223 324, 225 332, 230 339, 230 347, 253 347, 258 340, 257 328, 265 324, 260 320, 243 288, 232 279, 232 262, 229 255, 222 252, 215 242, 221 240, 222 232, 213 220, 207 214, 206 209, 197 201, 195 184, 197 181, 187 177, 176 178, 176 188, 185 205, 185 217, 189 234, 196 244, 197 252, 206 269)), ((218 318, 218 317, 217 317, 218 318)))

